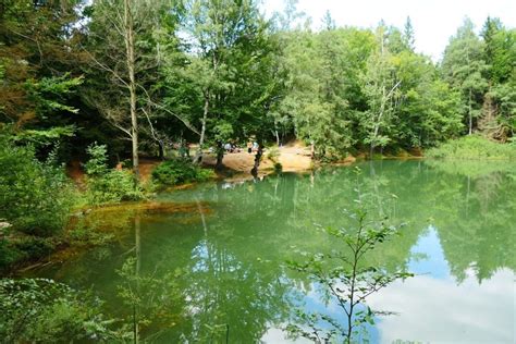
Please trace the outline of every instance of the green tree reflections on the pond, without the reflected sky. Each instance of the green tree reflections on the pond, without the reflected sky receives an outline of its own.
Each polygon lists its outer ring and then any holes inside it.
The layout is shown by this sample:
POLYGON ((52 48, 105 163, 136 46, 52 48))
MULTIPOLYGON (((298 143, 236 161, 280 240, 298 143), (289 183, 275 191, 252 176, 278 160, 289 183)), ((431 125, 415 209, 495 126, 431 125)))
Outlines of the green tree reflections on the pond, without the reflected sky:
MULTIPOLYGON (((374 199, 371 218, 408 223, 393 245, 380 244, 370 251, 365 266, 406 271, 410 260, 425 259, 413 247, 431 228, 458 283, 471 271, 478 283, 502 268, 514 271, 516 169, 497 164, 503 169, 423 161, 364 163, 360 194, 374 199)), ((342 210, 354 204, 356 181, 353 169, 335 168, 312 176, 285 173, 256 183, 205 184, 161 195, 161 200, 192 207, 142 214, 140 273, 160 281, 168 275, 176 291, 173 303, 163 302, 168 306, 143 325, 143 337, 225 342, 229 328, 230 343, 253 343, 270 329, 284 328, 296 306, 319 294, 310 279, 283 262, 298 259, 296 251, 335 248, 334 239, 315 229, 349 228, 342 210)), ((119 214, 119 222, 123 217, 119 214)), ((134 236, 121 234, 119 243, 109 254, 91 251, 41 275, 74 287, 94 285, 108 310, 121 314, 116 285, 123 281, 114 270, 127 258, 134 236)), ((305 304, 307 311, 320 307, 305 304)))

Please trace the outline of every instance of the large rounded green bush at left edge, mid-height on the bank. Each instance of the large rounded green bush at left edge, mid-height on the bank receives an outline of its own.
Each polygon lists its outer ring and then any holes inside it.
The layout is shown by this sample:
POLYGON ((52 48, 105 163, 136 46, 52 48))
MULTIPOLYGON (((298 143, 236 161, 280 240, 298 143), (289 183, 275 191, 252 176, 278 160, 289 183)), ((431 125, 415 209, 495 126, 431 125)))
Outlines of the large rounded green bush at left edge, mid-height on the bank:
POLYGON ((38 161, 33 147, 0 134, 0 218, 13 230, 50 236, 66 223, 74 187, 63 167, 50 160, 38 161))

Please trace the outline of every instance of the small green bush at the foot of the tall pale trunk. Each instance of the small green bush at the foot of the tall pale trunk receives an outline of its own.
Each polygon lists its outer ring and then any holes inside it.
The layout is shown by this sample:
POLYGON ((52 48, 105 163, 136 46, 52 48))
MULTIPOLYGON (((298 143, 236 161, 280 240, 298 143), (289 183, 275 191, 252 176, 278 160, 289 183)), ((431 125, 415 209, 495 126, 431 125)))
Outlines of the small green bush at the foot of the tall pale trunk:
POLYGON ((89 205, 138 200, 144 193, 128 170, 109 169, 107 148, 94 144, 88 147, 89 160, 86 162, 86 201, 89 205))

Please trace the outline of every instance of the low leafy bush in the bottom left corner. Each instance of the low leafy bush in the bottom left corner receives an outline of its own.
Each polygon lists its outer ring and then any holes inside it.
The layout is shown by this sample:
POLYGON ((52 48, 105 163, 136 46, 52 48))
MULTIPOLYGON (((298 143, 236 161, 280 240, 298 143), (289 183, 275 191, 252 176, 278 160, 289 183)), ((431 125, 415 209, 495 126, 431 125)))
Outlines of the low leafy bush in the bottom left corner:
POLYGON ((108 341, 111 320, 89 295, 46 279, 0 280, 0 337, 5 343, 108 341))

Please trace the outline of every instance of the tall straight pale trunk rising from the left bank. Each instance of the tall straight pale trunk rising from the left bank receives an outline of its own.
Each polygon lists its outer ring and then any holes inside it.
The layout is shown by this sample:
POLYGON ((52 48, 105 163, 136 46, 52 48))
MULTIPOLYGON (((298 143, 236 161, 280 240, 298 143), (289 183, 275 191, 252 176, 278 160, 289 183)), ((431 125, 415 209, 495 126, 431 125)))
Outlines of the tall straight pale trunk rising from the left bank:
POLYGON ((136 113, 136 79, 135 79, 135 54, 134 54, 134 30, 133 15, 131 13, 131 1, 124 0, 124 20, 125 20, 125 50, 127 53, 128 90, 131 102, 131 138, 133 143, 133 171, 136 181, 139 181, 139 161, 138 161, 138 119, 136 113))

